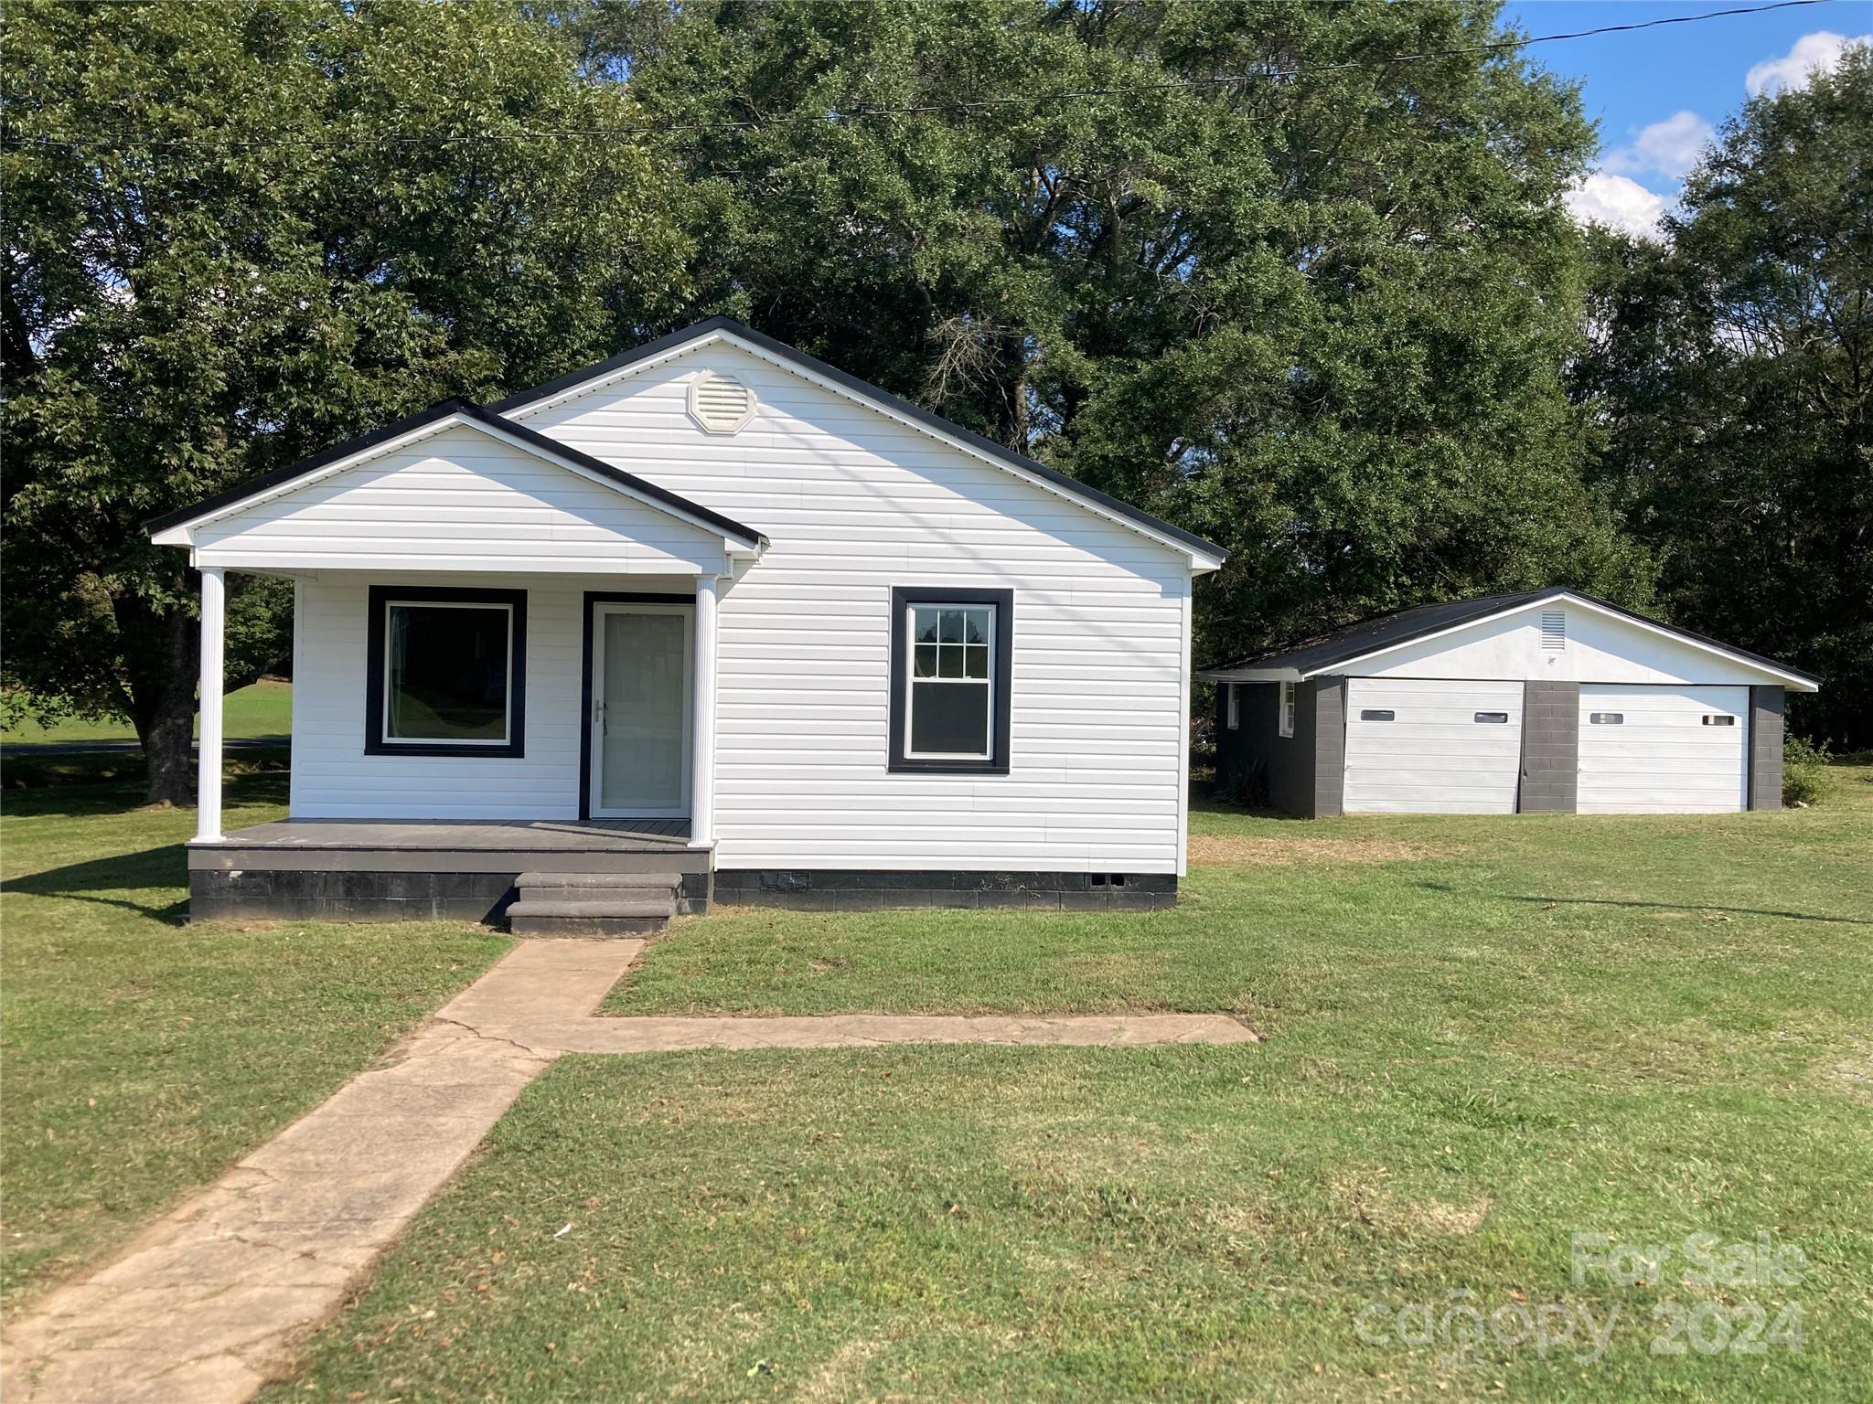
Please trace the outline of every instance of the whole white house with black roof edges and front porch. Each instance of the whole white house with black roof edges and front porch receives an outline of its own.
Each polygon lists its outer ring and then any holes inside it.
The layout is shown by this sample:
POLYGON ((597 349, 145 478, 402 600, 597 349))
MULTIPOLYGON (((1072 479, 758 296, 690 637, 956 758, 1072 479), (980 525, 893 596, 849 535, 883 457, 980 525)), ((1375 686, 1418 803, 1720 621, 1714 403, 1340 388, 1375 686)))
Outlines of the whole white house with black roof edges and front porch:
POLYGON ((202 573, 199 917, 485 915, 517 880, 517 929, 669 885, 1150 906, 1184 870, 1223 552, 727 318, 150 530, 202 573), (238 833, 227 571, 294 580, 290 818, 238 833))

